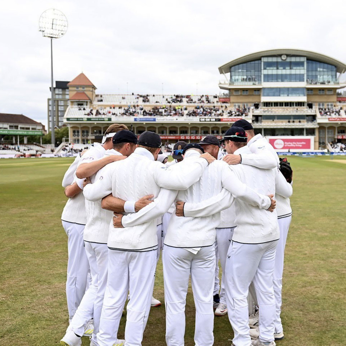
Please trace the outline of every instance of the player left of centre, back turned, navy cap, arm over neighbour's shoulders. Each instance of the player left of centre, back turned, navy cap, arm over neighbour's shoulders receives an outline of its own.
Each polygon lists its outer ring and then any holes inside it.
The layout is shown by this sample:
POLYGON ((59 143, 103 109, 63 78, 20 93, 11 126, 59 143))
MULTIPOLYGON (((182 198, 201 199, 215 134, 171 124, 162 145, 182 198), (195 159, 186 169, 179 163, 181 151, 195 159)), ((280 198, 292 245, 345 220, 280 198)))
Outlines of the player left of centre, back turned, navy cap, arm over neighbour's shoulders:
MULTIPOLYGON (((133 201, 148 194, 156 197, 160 187, 187 189, 214 160, 205 154, 184 172, 173 172, 155 161, 161 145, 159 135, 143 132, 139 136, 138 147, 128 159, 107 165, 100 179, 85 186, 86 199, 97 201, 112 193, 115 197, 133 201)), ((113 223, 110 224, 108 281, 97 334, 99 346, 112 346, 117 340, 129 290, 125 346, 141 345, 154 285, 158 247, 156 223, 155 218, 127 229, 114 228, 113 223)))

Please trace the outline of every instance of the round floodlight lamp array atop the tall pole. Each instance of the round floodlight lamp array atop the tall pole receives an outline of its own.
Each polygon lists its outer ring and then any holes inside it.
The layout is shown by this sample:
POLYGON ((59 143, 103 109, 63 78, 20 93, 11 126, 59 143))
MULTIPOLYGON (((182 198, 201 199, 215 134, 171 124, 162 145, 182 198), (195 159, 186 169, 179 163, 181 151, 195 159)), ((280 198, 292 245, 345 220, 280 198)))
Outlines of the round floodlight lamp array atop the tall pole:
POLYGON ((64 13, 55 8, 50 8, 41 14, 39 26, 39 30, 42 31, 44 37, 59 39, 65 35, 68 23, 64 13))

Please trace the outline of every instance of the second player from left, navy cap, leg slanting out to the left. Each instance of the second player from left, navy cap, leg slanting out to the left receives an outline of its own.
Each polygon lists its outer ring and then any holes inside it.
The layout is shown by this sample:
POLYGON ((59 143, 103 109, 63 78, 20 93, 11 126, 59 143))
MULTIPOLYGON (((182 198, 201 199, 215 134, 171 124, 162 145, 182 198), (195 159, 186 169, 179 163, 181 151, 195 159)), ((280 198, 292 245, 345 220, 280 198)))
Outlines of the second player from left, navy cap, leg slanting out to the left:
MULTIPOLYGON (((129 130, 120 130, 113 136, 112 143, 113 149, 106 150, 105 158, 109 155, 130 156, 136 147, 137 137, 129 130)), ((104 169, 104 167, 100 169, 95 174, 94 179, 102 176, 104 169)), ((125 209, 127 208, 126 204, 125 202, 125 209)), ((67 333, 60 342, 61 346, 79 345, 83 331, 92 317, 94 328, 90 345, 98 346, 96 335, 99 331, 99 321, 108 273, 108 229, 113 214, 102 209, 101 200, 99 200, 87 203, 87 215, 84 241, 92 280, 67 333)))

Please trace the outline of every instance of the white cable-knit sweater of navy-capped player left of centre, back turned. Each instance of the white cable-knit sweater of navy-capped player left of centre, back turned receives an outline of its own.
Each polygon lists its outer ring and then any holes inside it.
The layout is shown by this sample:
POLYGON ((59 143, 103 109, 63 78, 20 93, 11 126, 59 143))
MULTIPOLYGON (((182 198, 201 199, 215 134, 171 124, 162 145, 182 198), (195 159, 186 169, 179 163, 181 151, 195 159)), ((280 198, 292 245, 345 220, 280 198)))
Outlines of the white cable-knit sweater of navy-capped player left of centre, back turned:
MULTIPOLYGON (((173 171, 161 162, 154 161, 153 155, 148 150, 136 148, 126 160, 107 165, 98 180, 86 185, 84 195, 90 201, 97 201, 110 193, 126 201, 136 201, 149 194, 156 198, 160 187, 187 189, 200 178, 208 162, 198 158, 184 170, 179 170, 179 165, 174 166, 178 169, 173 171)), ((156 250, 158 245, 156 218, 163 214, 128 228, 114 228, 111 222, 108 247, 123 251, 156 250)))

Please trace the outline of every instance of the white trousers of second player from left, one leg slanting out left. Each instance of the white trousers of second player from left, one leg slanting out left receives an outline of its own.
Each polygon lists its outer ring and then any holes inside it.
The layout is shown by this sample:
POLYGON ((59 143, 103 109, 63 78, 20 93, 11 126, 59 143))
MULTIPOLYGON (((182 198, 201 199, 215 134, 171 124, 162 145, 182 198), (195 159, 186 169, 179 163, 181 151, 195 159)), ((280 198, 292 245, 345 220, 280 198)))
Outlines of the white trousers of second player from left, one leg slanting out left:
POLYGON ((73 317, 69 329, 75 334, 84 334, 87 322, 94 319, 94 332, 92 339, 97 343, 96 334, 99 330, 103 296, 106 290, 108 272, 108 248, 107 244, 86 244, 87 259, 90 265, 91 284, 73 317))

